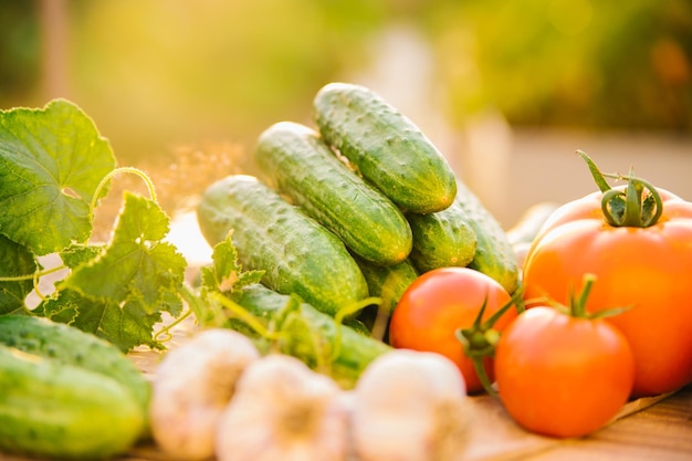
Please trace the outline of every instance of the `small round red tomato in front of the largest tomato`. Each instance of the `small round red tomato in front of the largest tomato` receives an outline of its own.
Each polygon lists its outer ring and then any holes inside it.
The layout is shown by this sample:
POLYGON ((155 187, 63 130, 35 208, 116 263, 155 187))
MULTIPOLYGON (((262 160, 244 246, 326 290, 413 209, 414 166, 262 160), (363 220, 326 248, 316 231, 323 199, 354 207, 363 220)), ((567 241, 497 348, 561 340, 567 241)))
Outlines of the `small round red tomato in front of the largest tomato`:
POLYGON ((521 426, 551 437, 581 437, 627 402, 635 359, 626 337, 608 322, 539 306, 505 328, 495 348, 495 378, 502 404, 521 426))

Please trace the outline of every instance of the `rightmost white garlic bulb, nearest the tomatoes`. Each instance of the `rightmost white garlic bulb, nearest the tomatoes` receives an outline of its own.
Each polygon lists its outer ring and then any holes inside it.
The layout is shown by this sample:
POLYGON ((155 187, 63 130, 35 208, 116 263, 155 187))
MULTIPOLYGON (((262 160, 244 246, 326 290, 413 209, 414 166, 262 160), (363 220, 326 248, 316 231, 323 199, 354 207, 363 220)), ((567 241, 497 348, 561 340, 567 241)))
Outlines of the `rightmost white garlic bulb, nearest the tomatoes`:
POLYGON ((463 454, 466 386, 448 358, 395 349, 364 370, 353 394, 359 461, 448 461, 463 454))

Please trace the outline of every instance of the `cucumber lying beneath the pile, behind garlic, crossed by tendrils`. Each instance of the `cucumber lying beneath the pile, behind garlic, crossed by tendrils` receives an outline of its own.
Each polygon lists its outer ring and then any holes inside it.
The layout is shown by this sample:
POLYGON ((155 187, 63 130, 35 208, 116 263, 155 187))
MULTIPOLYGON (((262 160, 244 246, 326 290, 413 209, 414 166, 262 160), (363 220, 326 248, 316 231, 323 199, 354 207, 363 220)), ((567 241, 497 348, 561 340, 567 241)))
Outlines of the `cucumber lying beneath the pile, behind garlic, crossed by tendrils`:
MULTIPOLYGON (((289 295, 277 293, 262 284, 247 285, 232 294, 232 298, 268 325, 276 319, 290 302, 289 295)), ((300 304, 300 319, 285 325, 286 329, 283 331, 289 334, 282 342, 282 353, 318 368, 314 345, 326 347, 326 350, 332 353, 340 338, 329 374, 343 388, 353 388, 370 362, 391 350, 390 346, 358 333, 348 325, 342 325, 340 337, 337 336, 334 318, 308 303, 300 304)))

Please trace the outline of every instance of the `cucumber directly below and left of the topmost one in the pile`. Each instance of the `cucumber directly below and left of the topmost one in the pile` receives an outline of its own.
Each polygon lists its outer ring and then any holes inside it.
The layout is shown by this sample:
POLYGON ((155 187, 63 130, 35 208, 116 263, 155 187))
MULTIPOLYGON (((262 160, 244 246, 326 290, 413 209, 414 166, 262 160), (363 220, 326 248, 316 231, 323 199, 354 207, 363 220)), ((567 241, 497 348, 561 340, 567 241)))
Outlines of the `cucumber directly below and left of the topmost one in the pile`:
POLYGON ((255 159, 268 182, 371 263, 403 261, 412 248, 403 213, 339 160, 314 129, 280 122, 265 129, 255 159))

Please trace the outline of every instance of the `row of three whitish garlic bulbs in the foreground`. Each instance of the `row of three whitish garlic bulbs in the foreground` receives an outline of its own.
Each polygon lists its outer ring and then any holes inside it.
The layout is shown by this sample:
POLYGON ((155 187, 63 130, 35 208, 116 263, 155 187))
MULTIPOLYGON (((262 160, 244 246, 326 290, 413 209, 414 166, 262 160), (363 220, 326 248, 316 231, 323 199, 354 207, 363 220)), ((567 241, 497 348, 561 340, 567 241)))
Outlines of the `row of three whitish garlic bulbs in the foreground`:
POLYGON ((395 349, 345 390, 216 328, 161 360, 151 427, 162 451, 186 460, 444 461, 463 452, 465 399, 459 369, 437 354, 395 349))

